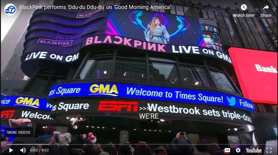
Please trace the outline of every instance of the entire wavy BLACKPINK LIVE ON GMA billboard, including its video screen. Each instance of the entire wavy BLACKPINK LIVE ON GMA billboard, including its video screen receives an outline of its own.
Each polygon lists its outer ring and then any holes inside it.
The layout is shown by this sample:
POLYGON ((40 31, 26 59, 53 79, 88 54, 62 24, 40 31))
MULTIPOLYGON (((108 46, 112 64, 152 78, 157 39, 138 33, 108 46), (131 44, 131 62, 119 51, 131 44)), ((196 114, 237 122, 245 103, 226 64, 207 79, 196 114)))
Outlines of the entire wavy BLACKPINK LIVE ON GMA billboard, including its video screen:
POLYGON ((86 51, 81 49, 95 44, 129 46, 151 52, 204 55, 232 64, 229 55, 222 52, 218 29, 208 27, 208 30, 204 30, 199 20, 152 11, 114 8, 83 13, 36 10, 25 35, 22 70, 30 67, 30 63, 25 64, 25 61, 73 62, 78 60, 78 53, 86 51))

